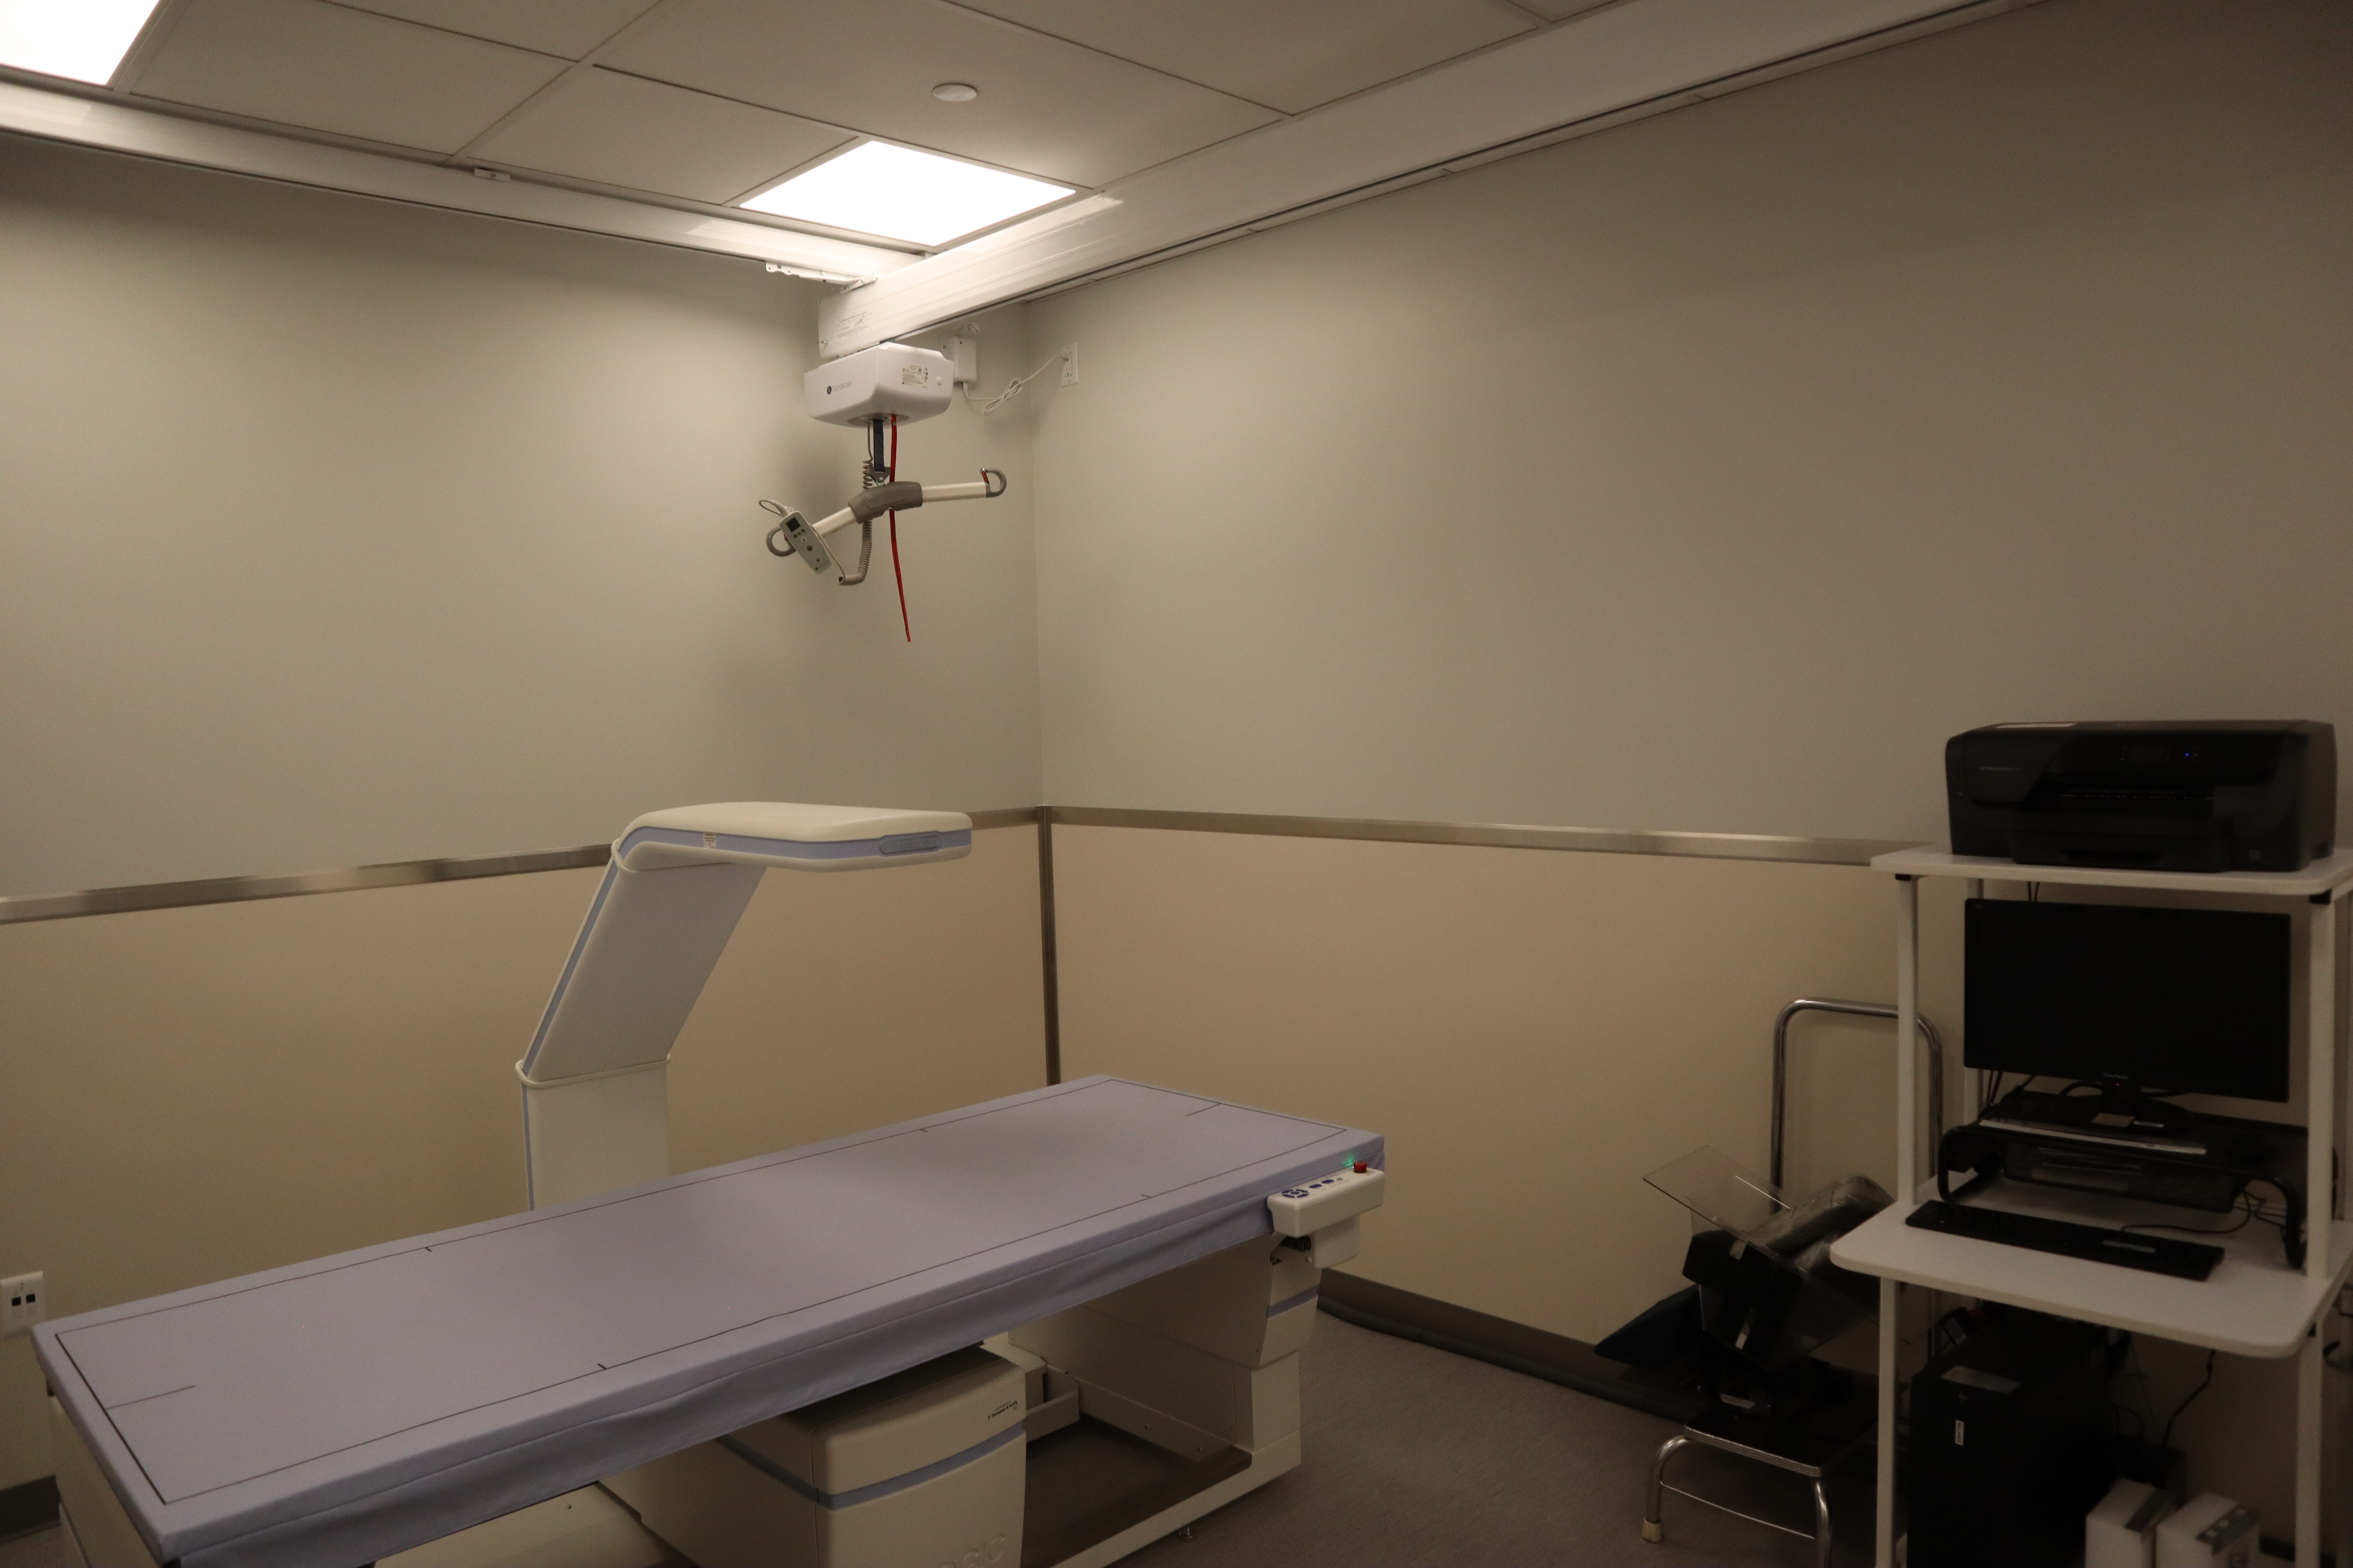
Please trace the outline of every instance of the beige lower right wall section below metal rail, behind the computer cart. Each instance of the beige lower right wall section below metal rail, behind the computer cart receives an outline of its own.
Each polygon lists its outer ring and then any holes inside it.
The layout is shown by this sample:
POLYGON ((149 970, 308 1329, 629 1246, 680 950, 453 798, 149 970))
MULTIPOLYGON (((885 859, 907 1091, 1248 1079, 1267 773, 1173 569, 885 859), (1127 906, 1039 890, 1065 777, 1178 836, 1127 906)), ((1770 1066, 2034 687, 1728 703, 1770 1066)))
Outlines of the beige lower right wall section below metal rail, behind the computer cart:
MULTIPOLYGON (((1579 1340, 1682 1286, 1689 1227, 1645 1171, 1704 1143, 1765 1166, 1774 1013, 1894 999, 1892 886, 1861 867, 1056 827, 1054 882, 1071 1077, 1384 1133, 1348 1269, 1579 1340)), ((1955 1065, 1960 893, 1922 891, 1955 1065)), ((1889 1044, 1793 1025, 1793 1187, 1892 1180, 1889 1044)), ((2202 1352, 2144 1342, 2137 1368, 2120 1396, 2162 1425, 2202 1352)), ((2292 1371, 2224 1356, 2174 1432, 2193 1486, 2275 1535, 2292 1371)))

